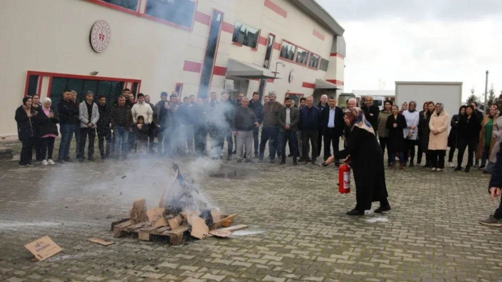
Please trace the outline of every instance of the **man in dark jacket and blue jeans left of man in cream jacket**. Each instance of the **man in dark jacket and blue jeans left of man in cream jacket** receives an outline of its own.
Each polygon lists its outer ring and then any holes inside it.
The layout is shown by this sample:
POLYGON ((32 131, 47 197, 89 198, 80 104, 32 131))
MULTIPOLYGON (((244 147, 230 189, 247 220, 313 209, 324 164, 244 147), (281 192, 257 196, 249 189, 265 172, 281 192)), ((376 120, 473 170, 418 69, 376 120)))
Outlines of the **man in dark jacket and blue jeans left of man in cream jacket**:
POLYGON ((110 121, 111 129, 115 134, 115 159, 120 158, 120 149, 122 149, 123 159, 127 159, 131 152, 128 137, 133 132, 134 123, 131 108, 126 105, 126 97, 118 97, 118 103, 111 107, 110 121))

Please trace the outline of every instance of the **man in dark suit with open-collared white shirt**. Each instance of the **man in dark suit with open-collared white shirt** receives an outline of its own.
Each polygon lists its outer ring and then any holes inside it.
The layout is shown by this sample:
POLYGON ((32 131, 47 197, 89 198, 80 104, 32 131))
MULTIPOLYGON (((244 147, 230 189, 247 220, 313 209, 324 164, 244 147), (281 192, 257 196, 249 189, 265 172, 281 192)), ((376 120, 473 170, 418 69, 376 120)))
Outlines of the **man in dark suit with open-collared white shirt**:
POLYGON ((328 106, 321 111, 322 135, 324 136, 324 161, 331 157, 331 146, 333 153, 339 151, 340 136, 343 134, 344 121, 343 110, 336 106, 335 97, 329 97, 328 106))

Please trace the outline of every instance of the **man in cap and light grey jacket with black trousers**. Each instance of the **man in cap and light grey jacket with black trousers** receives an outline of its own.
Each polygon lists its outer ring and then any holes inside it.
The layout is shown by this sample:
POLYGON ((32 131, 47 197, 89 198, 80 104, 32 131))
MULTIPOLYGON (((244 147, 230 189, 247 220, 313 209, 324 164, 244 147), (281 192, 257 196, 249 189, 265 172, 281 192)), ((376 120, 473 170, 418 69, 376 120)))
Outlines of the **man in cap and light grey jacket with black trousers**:
POLYGON ((89 147, 87 148, 87 160, 94 161, 94 139, 96 138, 96 123, 99 120, 97 104, 93 102, 94 93, 88 91, 85 101, 78 107, 78 119, 80 120, 80 150, 77 159, 84 161, 84 149, 87 135, 89 135, 89 147))

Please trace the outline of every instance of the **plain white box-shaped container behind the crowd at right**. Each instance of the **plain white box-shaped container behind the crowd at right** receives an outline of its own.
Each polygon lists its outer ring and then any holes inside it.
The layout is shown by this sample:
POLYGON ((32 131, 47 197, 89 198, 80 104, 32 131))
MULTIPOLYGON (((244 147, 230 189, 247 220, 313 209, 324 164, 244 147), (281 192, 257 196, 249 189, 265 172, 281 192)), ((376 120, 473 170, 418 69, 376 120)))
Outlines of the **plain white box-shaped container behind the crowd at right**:
MULTIPOLYGON (((426 101, 443 103, 451 120, 462 105, 462 82, 396 81, 395 104, 401 109, 404 102, 410 101, 417 103, 418 111, 426 101)), ((450 127, 448 123, 448 132, 450 127)))

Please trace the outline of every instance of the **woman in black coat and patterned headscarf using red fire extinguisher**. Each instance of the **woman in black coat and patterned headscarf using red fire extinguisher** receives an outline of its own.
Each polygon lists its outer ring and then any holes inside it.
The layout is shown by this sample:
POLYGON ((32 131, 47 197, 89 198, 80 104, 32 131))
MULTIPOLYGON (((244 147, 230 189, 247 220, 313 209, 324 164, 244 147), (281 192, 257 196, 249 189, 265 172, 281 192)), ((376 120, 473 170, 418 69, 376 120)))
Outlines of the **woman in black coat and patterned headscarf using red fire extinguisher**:
POLYGON ((347 147, 335 152, 321 166, 327 166, 334 160, 344 159, 344 162, 347 162, 350 159, 354 173, 356 205, 347 215, 364 215, 365 210, 371 209, 371 202, 376 201, 380 202, 380 207, 374 212, 390 211, 385 183, 384 152, 376 140, 373 127, 358 107, 347 109, 344 120, 351 130, 347 147))

